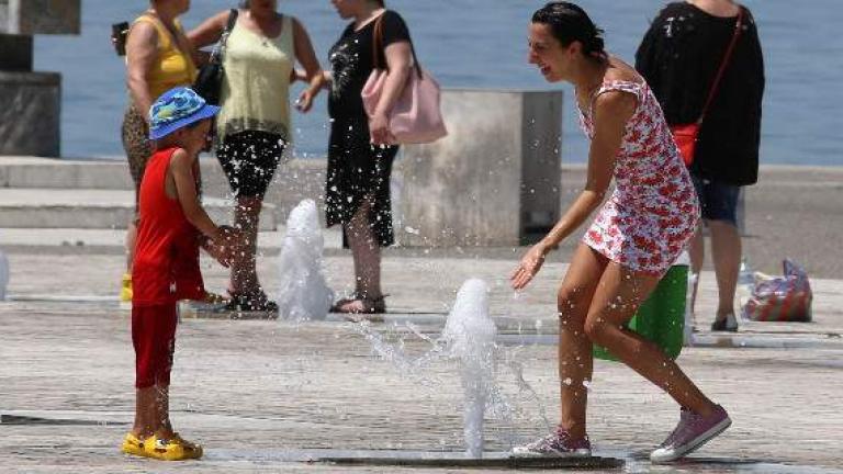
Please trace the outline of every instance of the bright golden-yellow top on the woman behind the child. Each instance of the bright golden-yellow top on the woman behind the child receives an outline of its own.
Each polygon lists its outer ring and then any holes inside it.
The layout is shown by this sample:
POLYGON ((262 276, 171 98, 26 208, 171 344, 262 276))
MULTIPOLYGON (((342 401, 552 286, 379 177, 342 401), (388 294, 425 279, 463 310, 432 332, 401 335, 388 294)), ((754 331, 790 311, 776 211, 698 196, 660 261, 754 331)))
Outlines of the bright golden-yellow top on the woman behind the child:
MULTIPOLYGON (((158 60, 147 76, 153 101, 175 87, 192 86, 196 79, 196 67, 190 53, 179 49, 170 32, 157 19, 145 14, 135 20, 135 23, 138 22, 151 23, 158 32, 158 60)), ((178 20, 176 27, 183 32, 178 20)))

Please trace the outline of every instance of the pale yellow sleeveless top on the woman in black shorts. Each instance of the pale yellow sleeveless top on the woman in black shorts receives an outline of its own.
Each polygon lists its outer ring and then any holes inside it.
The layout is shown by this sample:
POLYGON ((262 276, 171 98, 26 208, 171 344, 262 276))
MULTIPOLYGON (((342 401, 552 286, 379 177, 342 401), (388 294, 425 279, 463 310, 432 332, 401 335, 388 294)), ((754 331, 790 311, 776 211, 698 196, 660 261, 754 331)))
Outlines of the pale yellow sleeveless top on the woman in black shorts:
POLYGON ((295 61, 293 21, 284 15, 281 34, 266 37, 238 21, 225 45, 225 75, 217 138, 245 131, 291 140, 290 74, 295 61))

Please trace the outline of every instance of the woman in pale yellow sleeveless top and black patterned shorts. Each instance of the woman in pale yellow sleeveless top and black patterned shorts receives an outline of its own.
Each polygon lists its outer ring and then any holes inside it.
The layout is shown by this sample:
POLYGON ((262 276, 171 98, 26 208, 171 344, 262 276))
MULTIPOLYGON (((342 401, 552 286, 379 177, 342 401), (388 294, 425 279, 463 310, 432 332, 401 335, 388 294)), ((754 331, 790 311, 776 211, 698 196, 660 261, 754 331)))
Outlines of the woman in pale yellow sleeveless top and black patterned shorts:
MULTIPOLYGON (((237 22, 223 53, 225 77, 217 116, 217 158, 237 199, 235 226, 247 242, 247 251, 232 263, 229 308, 274 312, 278 305, 267 297, 256 271, 258 216, 269 183, 289 146, 290 82, 299 61, 310 88, 302 92, 297 108, 311 109, 324 77, 311 40, 299 20, 277 11, 277 0, 243 2, 237 22)), ((198 48, 216 43, 231 12, 221 12, 189 37, 198 48)))

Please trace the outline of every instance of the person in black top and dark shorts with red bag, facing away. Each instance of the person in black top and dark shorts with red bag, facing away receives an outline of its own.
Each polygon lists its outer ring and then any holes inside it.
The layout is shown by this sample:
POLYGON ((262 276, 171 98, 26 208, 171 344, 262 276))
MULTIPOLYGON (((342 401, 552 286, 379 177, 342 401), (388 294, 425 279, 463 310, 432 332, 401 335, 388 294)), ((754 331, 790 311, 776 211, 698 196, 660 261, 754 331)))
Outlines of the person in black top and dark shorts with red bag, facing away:
MULTIPOLYGON (((700 126, 690 166, 711 235, 717 274, 719 305, 711 329, 729 331, 738 330, 738 200, 741 187, 754 184, 758 177, 764 59, 755 20, 749 9, 732 0, 668 3, 636 54, 636 68, 659 99, 667 123, 694 123, 702 112, 741 11, 740 34, 700 126)), ((697 232, 690 244, 696 275, 702 268, 704 248, 702 234, 697 232)), ((694 300, 690 305, 693 311, 694 300)))

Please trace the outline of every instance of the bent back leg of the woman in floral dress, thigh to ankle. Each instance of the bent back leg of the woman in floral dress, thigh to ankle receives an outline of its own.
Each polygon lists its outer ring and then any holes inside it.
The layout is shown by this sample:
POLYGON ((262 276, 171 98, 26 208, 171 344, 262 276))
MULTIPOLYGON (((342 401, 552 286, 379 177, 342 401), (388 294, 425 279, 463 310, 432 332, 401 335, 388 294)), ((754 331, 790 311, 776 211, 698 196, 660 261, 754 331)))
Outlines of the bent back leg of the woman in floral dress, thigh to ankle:
POLYGON ((585 330, 593 341, 667 392, 681 406, 709 416, 716 405, 679 366, 657 346, 623 327, 659 280, 660 276, 633 272, 609 262, 588 309, 585 330))

